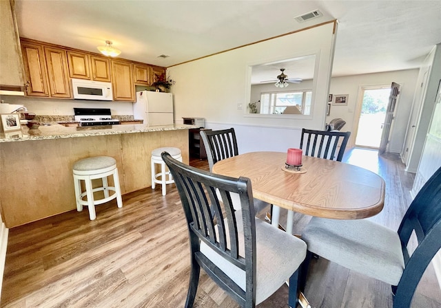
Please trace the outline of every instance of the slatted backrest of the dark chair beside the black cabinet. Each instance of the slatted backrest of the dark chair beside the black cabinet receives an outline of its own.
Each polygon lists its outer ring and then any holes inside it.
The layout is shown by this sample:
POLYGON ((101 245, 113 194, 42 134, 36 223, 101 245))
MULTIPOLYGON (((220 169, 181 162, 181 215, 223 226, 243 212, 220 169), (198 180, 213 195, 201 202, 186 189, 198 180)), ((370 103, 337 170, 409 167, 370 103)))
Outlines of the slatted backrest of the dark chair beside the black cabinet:
POLYGON ((216 162, 238 155, 236 133, 233 128, 219 131, 201 130, 201 137, 207 152, 210 171, 216 162))

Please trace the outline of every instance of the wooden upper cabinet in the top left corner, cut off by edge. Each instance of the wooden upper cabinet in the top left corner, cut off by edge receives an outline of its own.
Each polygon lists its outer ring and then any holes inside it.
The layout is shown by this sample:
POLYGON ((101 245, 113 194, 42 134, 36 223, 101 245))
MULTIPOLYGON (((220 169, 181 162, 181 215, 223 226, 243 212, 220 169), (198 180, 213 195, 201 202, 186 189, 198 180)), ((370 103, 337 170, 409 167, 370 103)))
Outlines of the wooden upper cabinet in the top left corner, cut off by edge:
POLYGON ((0 42, 0 89, 23 91, 23 60, 10 1, 0 1, 0 42))

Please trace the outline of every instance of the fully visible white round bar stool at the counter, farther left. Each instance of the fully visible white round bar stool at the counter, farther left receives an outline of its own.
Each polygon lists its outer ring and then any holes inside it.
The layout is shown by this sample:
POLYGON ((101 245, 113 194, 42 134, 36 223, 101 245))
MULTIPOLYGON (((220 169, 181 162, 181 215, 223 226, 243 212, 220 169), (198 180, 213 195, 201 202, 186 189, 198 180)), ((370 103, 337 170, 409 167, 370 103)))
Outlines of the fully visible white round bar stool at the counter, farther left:
POLYGON ((95 206, 116 198, 119 208, 123 207, 121 188, 119 187, 118 169, 116 160, 109 156, 96 156, 80 159, 73 166, 76 210, 81 212, 83 206, 88 206, 90 220, 96 218, 95 206), (108 186, 107 177, 112 175, 114 186, 108 186), (101 179, 103 186, 92 188, 92 179, 101 179), (81 191, 81 181, 85 183, 85 192, 81 191), (109 195, 109 190, 114 194, 109 195), (103 191, 103 199, 94 199, 94 192, 103 191), (83 200, 86 197, 87 200, 83 200))

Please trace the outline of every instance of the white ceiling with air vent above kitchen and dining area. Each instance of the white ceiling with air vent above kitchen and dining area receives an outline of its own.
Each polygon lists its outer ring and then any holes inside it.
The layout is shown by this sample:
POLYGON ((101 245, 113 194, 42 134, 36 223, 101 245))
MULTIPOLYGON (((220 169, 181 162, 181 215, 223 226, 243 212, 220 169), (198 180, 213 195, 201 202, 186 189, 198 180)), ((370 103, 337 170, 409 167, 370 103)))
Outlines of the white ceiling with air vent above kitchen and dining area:
POLYGON ((440 0, 16 0, 16 12, 20 36, 89 52, 110 40, 121 58, 163 67, 332 19, 339 22, 333 76, 419 67, 441 43, 440 0), (320 19, 294 19, 317 9, 320 19))

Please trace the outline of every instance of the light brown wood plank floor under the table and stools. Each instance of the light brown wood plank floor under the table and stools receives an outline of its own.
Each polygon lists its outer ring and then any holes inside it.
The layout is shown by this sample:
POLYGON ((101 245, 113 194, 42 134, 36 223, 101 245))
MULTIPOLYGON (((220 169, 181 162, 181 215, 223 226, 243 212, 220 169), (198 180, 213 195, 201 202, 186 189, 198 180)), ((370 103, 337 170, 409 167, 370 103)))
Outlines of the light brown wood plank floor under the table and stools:
MULTIPOLYGON (((371 219, 398 228, 411 201, 413 175, 404 172, 396 155, 353 149, 345 161, 385 179, 384 210, 371 219)), ((208 170, 206 161, 191 164, 208 170)), ((123 196, 123 204, 121 209, 114 201, 97 206, 95 221, 86 208, 12 228, 1 307, 183 307, 189 250, 176 188, 167 186, 165 197, 160 186, 139 190, 123 196)), ((301 233, 307 221, 296 214, 294 233, 301 233)), ((238 307, 201 273, 194 307, 238 307)), ((429 267, 412 307, 440 307, 440 293, 429 267)), ((392 307, 389 285, 322 258, 311 262, 305 294, 312 307, 392 307)), ((287 286, 258 307, 287 307, 287 286)))

